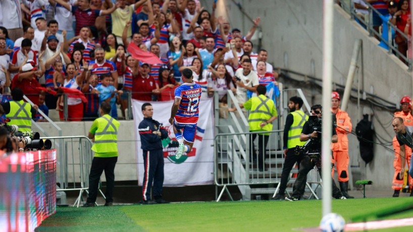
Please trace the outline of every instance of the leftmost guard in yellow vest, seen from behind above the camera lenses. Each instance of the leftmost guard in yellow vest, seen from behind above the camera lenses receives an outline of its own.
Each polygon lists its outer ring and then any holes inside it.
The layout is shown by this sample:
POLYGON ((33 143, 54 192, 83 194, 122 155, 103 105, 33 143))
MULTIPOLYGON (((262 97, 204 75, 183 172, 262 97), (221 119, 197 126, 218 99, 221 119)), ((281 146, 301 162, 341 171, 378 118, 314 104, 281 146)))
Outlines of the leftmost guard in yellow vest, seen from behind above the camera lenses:
POLYGON ((34 108, 23 101, 23 90, 18 87, 12 89, 12 102, 2 103, 6 118, 10 119, 8 125, 17 125, 19 131, 31 130, 31 119, 36 115, 37 106, 34 108))

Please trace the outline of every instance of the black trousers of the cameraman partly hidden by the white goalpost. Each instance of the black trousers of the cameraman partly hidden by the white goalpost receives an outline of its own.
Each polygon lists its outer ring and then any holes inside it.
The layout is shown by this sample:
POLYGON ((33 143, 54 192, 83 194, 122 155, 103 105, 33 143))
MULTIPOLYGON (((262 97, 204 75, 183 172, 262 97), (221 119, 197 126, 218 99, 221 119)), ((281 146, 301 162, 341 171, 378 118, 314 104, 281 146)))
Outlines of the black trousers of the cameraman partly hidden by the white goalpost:
MULTIPOLYGON (((309 171, 311 171, 314 168, 314 166, 316 165, 316 162, 317 161, 315 159, 312 159, 308 155, 304 155, 304 157, 302 158, 301 163, 300 163, 300 168, 298 169, 298 176, 294 182, 294 187, 293 187, 293 192, 292 192, 292 196, 294 198, 299 199, 304 194, 307 174, 309 171)), ((317 167, 317 169, 319 170, 319 174, 321 176, 321 167, 320 168, 317 167)), ((332 192, 333 192, 334 198, 340 198, 342 196, 341 191, 337 188, 337 185, 334 182, 334 180, 332 181, 332 192)))

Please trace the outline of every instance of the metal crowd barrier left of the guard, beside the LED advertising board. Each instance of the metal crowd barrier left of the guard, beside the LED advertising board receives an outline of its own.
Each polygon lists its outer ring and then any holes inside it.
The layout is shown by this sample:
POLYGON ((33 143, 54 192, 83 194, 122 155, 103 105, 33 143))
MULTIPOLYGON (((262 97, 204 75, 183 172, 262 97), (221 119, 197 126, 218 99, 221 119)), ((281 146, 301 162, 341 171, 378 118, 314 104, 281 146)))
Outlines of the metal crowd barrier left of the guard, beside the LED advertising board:
MULTIPOLYGON (((88 193, 89 172, 93 159, 91 150, 93 143, 86 136, 58 136, 41 137, 50 140, 55 146, 60 145, 58 154, 57 182, 60 189, 57 191, 79 191, 73 204, 79 207, 83 192, 88 193)), ((100 186, 100 184, 99 184, 100 186)), ((100 191, 105 198, 105 195, 100 191)))

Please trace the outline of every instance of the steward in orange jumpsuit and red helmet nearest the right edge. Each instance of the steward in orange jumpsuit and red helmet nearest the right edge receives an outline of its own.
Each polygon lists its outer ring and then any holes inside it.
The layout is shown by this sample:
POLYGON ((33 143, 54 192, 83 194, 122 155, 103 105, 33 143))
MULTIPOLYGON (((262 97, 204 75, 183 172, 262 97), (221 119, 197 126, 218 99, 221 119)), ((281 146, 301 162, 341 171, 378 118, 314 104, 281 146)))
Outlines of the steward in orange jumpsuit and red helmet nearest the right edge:
MULTIPOLYGON (((410 113, 410 97, 404 96, 400 100, 401 104, 401 111, 395 112, 394 117, 400 117, 403 119, 405 126, 413 126, 413 116, 410 113)), ((400 176, 401 171, 401 160, 400 160, 400 145, 397 142, 396 136, 393 137, 393 149, 394 149, 394 160, 393 160, 393 167, 394 167, 394 175, 393 175, 393 184, 392 189, 394 190, 393 197, 398 197, 400 194, 401 187, 403 185, 403 176, 404 173, 400 176)), ((407 169, 410 167, 410 157, 411 157, 411 148, 404 145, 405 155, 407 160, 407 169)), ((403 164, 404 167, 405 164, 403 164)), ((413 179, 409 176, 409 183, 413 183, 413 179)))

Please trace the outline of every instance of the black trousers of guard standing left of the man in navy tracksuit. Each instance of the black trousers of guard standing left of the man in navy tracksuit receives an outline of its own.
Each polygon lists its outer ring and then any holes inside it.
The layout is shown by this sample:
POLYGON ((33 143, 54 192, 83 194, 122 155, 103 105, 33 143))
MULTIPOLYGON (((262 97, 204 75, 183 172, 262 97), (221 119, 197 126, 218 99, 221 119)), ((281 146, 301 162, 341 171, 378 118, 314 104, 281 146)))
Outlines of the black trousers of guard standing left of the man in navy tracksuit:
POLYGON ((118 157, 93 157, 89 174, 89 195, 87 203, 94 203, 97 197, 100 175, 105 171, 106 202, 113 202, 113 188, 115 187, 115 165, 118 157))

